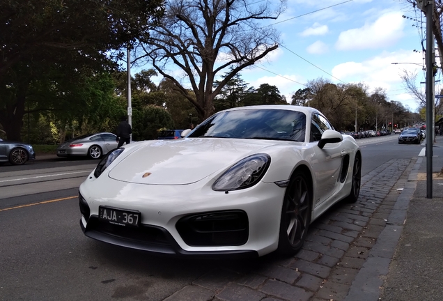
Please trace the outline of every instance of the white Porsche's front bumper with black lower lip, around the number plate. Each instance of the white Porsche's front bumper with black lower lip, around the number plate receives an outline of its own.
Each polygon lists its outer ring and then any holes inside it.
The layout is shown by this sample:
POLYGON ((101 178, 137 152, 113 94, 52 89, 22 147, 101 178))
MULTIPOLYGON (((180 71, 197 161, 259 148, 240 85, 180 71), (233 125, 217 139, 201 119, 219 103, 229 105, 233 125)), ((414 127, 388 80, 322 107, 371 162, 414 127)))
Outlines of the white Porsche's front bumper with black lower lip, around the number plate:
MULTIPOLYGON (((79 190, 79 197, 84 200, 81 229, 95 240, 176 256, 257 257, 277 249, 285 189, 274 183, 259 183, 226 194, 213 191, 210 188, 212 181, 204 187, 201 183, 168 187, 122 183, 107 178, 103 181, 107 183, 103 190, 98 182, 98 179, 88 177, 79 190), (141 225, 134 229, 103 224, 98 219, 98 206, 138 210, 141 225), (242 230, 244 226, 239 218, 233 223, 238 226, 233 229, 225 227, 196 236, 196 232, 205 231, 204 227, 195 229, 195 224, 186 221, 196 215, 232 212, 244 213, 246 232, 242 230), (230 235, 228 231, 233 232, 230 235)), ((212 226, 217 227, 216 224, 212 226)))

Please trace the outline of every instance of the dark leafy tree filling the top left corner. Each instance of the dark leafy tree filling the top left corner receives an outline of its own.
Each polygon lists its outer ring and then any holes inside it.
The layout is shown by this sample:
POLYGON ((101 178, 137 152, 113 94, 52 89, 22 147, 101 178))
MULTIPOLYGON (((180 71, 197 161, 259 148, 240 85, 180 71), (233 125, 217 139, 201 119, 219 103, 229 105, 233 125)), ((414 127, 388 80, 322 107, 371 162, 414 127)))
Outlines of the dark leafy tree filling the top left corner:
MULTIPOLYGON (((121 57, 118 49, 146 35, 162 14, 161 3, 1 1, 0 124, 8 139, 20 141, 27 108, 54 110, 54 98, 38 98, 31 91, 47 86, 66 109, 61 100, 80 84, 75 82, 78 73, 84 72, 86 78, 116 68, 116 59, 121 57), (34 105, 37 101, 38 106, 34 105)), ((84 105, 77 101, 78 107, 84 105)))

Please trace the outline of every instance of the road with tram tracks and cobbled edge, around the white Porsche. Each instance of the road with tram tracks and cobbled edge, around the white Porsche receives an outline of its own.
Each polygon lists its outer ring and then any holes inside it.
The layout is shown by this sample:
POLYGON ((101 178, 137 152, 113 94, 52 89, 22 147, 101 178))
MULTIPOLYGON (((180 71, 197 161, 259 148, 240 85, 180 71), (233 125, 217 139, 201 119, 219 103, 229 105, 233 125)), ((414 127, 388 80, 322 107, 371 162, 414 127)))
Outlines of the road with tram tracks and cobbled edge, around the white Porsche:
POLYGON ((0 300, 343 300, 422 148, 397 137, 357 140, 359 201, 311 224, 290 258, 177 259, 97 242, 81 232, 77 200, 97 161, 0 167, 0 300))

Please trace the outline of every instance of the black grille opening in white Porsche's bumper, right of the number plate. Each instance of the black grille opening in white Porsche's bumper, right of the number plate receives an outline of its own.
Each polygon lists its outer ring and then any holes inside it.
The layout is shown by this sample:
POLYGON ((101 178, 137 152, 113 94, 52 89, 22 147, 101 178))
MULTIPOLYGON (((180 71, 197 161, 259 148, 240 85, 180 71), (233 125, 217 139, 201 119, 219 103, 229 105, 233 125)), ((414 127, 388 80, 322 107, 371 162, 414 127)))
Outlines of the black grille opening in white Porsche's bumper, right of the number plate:
POLYGON ((193 247, 244 245, 249 236, 248 217, 242 210, 187 215, 176 228, 182 240, 193 247))

